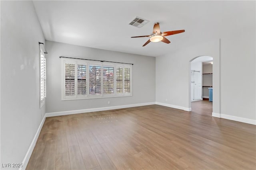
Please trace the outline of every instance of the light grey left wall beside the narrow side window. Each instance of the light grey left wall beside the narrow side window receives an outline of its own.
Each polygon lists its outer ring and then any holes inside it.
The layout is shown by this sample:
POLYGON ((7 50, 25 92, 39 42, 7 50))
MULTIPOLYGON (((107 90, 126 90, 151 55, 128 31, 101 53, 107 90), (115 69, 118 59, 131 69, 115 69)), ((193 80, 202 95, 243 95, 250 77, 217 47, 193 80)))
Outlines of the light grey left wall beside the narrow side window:
POLYGON ((45 114, 38 41, 44 35, 32 1, 1 1, 1 164, 22 163, 45 114))

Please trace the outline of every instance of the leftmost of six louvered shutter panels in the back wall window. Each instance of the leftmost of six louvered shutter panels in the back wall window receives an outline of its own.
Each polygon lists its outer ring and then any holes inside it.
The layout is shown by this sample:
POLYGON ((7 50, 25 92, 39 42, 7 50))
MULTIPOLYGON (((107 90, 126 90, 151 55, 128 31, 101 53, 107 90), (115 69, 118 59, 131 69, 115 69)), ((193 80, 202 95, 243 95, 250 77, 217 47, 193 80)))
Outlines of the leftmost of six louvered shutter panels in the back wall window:
POLYGON ((65 64, 65 95, 75 95, 75 64, 65 64))

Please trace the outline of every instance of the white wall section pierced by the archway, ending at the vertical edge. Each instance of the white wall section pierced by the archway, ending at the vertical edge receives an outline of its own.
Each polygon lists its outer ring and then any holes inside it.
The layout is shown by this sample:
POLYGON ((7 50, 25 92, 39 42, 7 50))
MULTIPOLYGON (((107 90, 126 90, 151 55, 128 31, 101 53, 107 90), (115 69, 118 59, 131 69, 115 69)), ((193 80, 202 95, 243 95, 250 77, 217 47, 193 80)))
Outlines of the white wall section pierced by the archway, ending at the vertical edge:
POLYGON ((196 44, 156 58, 156 102, 191 108, 190 61, 199 56, 213 57, 213 112, 220 113, 219 40, 196 44), (164 78, 163 78, 164 77, 164 78), (166 101, 167 100, 167 101, 166 101))

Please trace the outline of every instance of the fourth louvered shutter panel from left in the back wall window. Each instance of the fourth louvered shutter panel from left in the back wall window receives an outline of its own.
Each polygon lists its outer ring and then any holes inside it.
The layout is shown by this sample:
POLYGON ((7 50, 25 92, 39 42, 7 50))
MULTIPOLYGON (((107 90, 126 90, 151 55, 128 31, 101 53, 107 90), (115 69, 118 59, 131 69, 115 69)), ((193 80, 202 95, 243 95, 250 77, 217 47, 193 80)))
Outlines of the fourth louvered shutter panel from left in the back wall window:
POLYGON ((114 94, 114 67, 103 67, 103 94, 114 94))

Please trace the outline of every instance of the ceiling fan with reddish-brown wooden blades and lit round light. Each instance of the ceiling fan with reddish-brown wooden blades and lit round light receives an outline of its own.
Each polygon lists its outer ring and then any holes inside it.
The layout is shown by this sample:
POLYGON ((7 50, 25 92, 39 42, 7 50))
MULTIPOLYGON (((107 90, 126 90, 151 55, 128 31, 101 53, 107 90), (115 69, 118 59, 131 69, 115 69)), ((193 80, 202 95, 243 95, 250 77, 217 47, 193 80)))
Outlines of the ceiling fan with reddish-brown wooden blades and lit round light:
MULTIPOLYGON (((178 33, 183 33, 185 32, 184 29, 182 30, 176 30, 176 31, 166 31, 166 32, 160 32, 160 26, 159 23, 156 22, 154 23, 154 28, 153 28, 153 33, 150 35, 143 35, 143 36, 137 36, 137 37, 150 37, 150 39, 144 44, 142 45, 142 47, 144 47, 145 45, 147 45, 148 43, 151 42, 159 42, 162 41, 164 43, 169 44, 170 41, 165 37, 168 35, 174 35, 174 34, 178 34, 178 33)), ((131 38, 137 38, 137 37, 131 37, 131 38)))

